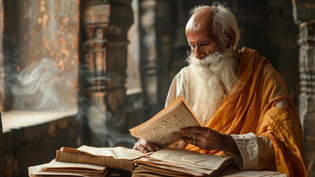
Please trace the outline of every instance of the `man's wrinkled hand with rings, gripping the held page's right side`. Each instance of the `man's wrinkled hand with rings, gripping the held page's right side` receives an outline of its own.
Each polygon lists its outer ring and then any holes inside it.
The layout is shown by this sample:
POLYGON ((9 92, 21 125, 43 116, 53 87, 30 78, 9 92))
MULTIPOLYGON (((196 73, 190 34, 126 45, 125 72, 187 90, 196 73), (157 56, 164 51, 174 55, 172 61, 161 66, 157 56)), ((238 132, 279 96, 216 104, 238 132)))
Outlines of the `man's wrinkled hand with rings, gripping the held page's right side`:
POLYGON ((184 128, 180 133, 173 133, 173 137, 180 137, 182 141, 203 150, 223 150, 240 153, 238 145, 232 136, 221 134, 207 127, 184 128))

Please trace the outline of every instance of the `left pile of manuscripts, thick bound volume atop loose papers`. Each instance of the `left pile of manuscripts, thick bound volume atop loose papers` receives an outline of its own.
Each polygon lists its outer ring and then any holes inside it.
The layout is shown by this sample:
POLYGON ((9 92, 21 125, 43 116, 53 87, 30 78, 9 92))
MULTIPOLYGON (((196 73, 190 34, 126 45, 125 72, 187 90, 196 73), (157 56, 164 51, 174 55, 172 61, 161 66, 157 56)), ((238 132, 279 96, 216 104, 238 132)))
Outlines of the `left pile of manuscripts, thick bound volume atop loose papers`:
POLYGON ((108 168, 133 171, 133 161, 143 155, 124 147, 63 147, 56 151, 56 158, 50 163, 29 167, 29 176, 106 176, 108 168))

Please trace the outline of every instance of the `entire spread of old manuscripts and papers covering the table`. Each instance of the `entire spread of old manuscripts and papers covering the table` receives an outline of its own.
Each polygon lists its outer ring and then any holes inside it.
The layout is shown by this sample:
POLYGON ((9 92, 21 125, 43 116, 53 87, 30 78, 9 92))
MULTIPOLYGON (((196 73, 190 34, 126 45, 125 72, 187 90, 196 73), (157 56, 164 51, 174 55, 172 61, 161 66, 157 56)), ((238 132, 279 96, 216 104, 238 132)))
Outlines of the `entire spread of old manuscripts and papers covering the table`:
POLYGON ((230 157, 164 148, 142 154, 124 147, 61 148, 55 160, 29 167, 29 176, 106 176, 108 168, 130 171, 132 176, 285 176, 274 171, 226 170, 230 157))

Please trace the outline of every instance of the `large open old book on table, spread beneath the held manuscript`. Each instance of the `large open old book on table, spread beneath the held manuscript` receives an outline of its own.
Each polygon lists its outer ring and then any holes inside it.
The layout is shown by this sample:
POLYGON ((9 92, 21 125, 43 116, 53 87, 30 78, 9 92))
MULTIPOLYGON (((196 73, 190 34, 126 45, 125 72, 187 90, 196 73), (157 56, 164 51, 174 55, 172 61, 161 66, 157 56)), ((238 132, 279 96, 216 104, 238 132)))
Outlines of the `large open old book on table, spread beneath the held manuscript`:
POLYGON ((89 146, 82 146, 78 149, 62 148, 57 151, 55 159, 62 162, 86 163, 133 171, 135 176, 142 174, 145 169, 164 171, 164 175, 177 173, 204 176, 224 169, 233 161, 231 157, 201 154, 198 151, 171 147, 142 154, 138 150, 123 147, 95 148, 89 146))

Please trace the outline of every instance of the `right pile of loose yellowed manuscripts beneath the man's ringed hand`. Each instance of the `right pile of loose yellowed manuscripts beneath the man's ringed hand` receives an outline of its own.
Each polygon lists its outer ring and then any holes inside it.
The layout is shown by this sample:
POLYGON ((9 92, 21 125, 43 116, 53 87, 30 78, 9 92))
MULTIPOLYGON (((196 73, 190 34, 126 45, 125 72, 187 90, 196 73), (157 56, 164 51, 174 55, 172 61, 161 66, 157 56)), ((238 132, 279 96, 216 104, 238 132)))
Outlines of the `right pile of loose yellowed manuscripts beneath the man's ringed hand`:
POLYGON ((230 157, 165 148, 137 159, 132 176, 214 176, 231 162, 230 157))

